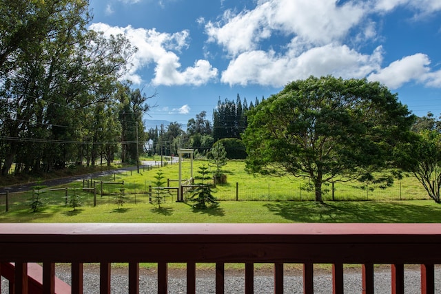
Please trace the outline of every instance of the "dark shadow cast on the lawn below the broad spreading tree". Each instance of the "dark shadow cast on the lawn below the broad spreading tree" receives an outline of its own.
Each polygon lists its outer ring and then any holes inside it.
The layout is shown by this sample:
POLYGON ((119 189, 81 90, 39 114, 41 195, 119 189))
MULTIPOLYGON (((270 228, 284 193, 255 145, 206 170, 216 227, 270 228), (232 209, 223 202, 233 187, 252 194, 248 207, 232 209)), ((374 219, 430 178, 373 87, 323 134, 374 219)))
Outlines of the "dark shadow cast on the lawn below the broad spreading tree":
POLYGON ((265 207, 292 222, 441 222, 441 206, 414 202, 273 202, 265 207))

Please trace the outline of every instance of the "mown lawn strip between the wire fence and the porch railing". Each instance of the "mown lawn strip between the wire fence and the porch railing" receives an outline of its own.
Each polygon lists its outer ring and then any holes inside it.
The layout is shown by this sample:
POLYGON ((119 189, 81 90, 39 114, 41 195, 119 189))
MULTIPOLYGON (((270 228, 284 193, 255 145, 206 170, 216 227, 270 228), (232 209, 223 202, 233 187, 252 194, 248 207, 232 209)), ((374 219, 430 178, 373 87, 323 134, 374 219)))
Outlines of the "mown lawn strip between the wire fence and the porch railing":
POLYGON ((0 222, 441 222, 441 205, 431 200, 304 202, 223 201, 207 210, 170 202, 161 209, 137 202, 100 204, 73 211, 61 205, 0 213, 0 222))

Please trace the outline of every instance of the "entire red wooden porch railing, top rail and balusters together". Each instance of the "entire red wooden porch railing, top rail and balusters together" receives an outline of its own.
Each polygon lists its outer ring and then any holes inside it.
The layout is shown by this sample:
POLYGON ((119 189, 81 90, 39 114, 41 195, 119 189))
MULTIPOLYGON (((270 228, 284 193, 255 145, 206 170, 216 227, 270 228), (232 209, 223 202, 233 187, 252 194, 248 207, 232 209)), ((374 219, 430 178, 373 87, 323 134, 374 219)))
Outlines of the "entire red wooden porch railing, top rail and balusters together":
POLYGON ((244 263, 245 289, 236 291, 253 293, 254 263, 271 263, 274 293, 283 293, 283 264, 300 263, 304 293, 314 293, 313 264, 327 263, 343 293, 343 264, 362 264, 362 293, 373 293, 373 264, 392 264, 391 293, 404 293, 404 264, 421 264, 421 293, 434 293, 440 246, 441 224, 0 224, 0 273, 8 277, 14 262, 10 293, 37 293, 27 265, 41 262, 41 293, 55 293, 54 264, 70 263, 71 291, 83 293, 83 263, 98 262, 100 291, 110 293, 110 264, 127 262, 129 293, 139 293, 139 262, 156 262, 157 291, 167 293, 167 263, 183 262, 195 293, 196 263, 213 262, 223 293, 225 263, 244 263))

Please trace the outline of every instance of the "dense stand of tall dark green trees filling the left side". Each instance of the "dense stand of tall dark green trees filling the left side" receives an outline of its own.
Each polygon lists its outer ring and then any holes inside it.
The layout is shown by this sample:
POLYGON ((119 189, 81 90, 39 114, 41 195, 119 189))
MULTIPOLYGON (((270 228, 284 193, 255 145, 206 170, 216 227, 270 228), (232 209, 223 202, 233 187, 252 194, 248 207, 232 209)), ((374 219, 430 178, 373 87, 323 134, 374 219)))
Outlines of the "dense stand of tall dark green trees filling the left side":
POLYGON ((148 97, 117 81, 136 48, 87 30, 87 0, 2 0, 0 12, 1 174, 111 161, 121 142, 134 160, 148 97))

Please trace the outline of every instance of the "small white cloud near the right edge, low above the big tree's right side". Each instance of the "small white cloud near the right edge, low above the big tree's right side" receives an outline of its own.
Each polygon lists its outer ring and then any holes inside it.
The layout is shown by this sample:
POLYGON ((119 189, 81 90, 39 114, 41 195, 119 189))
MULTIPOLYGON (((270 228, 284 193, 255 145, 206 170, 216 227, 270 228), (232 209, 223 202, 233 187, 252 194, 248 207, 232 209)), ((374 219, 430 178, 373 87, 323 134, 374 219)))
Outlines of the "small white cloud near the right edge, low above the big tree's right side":
MULTIPOLYGON (((424 83, 433 74, 430 73, 429 58, 425 54, 406 56, 398 61, 393 61, 376 73, 368 76, 369 81, 379 81, 391 89, 397 89, 410 81, 424 83)), ((435 78, 431 79, 435 81, 435 78)))

